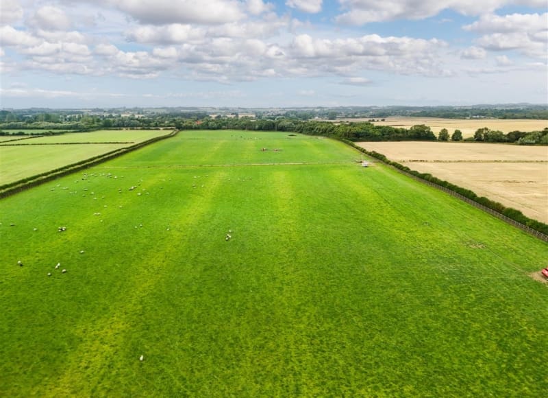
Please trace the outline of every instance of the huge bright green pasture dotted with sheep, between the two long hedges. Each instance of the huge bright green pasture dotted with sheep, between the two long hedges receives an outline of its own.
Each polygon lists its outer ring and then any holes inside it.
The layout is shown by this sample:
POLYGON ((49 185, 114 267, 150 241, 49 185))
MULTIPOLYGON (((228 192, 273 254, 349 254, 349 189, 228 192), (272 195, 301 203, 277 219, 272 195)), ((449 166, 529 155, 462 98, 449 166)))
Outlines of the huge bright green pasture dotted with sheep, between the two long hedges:
POLYGON ((547 244, 356 159, 180 132, 0 200, 0 395, 543 396, 547 244))

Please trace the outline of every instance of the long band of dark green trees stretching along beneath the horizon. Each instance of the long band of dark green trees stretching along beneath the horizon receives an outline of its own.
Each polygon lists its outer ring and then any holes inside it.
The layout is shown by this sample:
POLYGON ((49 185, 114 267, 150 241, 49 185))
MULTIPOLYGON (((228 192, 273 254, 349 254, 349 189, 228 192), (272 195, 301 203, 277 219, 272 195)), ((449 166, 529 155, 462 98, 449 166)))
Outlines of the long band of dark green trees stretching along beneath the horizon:
POLYGON ((425 124, 401 128, 377 126, 371 121, 325 121, 303 120, 292 117, 231 117, 218 115, 210 117, 203 113, 159 113, 155 115, 88 115, 76 113, 35 113, 22 116, 21 113, 0 111, 0 135, 23 135, 25 129, 43 130, 35 135, 55 134, 55 130, 90 131, 109 128, 171 128, 179 130, 255 130, 300 132, 308 135, 319 135, 350 141, 477 141, 491 143, 518 143, 520 145, 548 145, 548 128, 534 132, 512 131, 503 133, 499 130, 479 128, 473 137, 464 139, 460 130, 449 132, 443 128, 437 136, 425 124), (6 132, 4 130, 20 130, 6 132))

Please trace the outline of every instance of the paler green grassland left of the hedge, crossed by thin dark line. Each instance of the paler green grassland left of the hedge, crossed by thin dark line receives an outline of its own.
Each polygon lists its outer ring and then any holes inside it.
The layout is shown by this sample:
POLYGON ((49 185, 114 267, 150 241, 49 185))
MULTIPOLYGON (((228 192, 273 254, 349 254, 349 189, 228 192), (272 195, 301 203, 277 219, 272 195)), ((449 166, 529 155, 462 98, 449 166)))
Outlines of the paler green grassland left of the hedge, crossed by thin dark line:
MULTIPOLYGON (((0 185, 165 135, 167 130, 101 130, 38 137, 0 147, 0 185), (108 142, 108 143, 107 143, 108 142), (112 143, 125 142, 125 143, 112 143), (83 143, 73 145, 32 145, 83 143)), ((15 138, 15 137, 14 137, 15 138)))

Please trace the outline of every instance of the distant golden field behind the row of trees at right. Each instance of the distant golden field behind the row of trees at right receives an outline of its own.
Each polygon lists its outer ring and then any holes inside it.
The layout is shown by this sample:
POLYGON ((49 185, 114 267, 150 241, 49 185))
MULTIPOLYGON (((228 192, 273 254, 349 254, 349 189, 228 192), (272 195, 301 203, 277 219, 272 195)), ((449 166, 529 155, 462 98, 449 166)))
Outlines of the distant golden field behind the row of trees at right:
MULTIPOLYGON (((359 119, 367 121, 369 119, 359 119)), ((348 121, 358 121, 358 119, 348 119, 348 121)), ((462 137, 473 137, 478 128, 490 128, 491 130, 500 130, 503 133, 510 131, 536 131, 548 127, 548 120, 526 120, 526 119, 442 119, 440 117, 386 117, 384 121, 375 121, 377 126, 393 126, 410 128, 417 124, 425 124, 432 128, 432 131, 438 134, 442 128, 449 130, 449 135, 458 129, 462 131, 462 137)))

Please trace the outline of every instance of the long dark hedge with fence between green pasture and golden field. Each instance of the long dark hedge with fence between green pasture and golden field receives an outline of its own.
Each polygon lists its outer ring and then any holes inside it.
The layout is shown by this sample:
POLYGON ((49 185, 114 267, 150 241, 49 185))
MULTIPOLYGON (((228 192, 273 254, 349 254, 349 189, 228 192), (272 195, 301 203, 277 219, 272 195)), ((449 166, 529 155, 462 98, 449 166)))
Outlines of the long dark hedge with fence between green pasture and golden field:
POLYGON ((448 183, 445 180, 440 180, 439 178, 436 178, 432 176, 431 174, 416 172, 407 166, 388 160, 388 158, 386 158, 386 156, 384 156, 383 154, 379 154, 378 152, 375 152, 375 151, 370 152, 366 150, 365 148, 361 148, 355 143, 353 143, 352 141, 349 141, 347 139, 343 139, 341 141, 343 141, 347 145, 350 145, 356 150, 359 150, 360 152, 364 154, 367 154, 379 161, 382 161, 382 163, 392 167, 393 169, 397 170, 397 172, 400 172, 401 174, 405 176, 413 178, 414 180, 419 181, 420 183, 429 185, 430 187, 434 187, 440 191, 444 191, 445 193, 455 198, 458 198, 466 203, 471 204, 473 207, 476 207, 477 209, 485 211, 486 213, 489 213, 490 215, 493 215, 496 218, 499 218, 499 220, 502 220, 510 225, 513 225, 516 228, 519 228, 522 231, 525 231, 526 233, 533 235, 534 237, 538 237, 538 239, 548 242, 548 225, 544 224, 543 222, 533 220, 532 218, 528 218, 526 215, 523 215, 523 213, 521 213, 521 211, 519 210, 512 209, 511 207, 504 207, 503 204, 500 204, 498 202, 493 202, 492 200, 485 197, 478 197, 473 191, 469 189, 465 189, 465 188, 459 187, 458 185, 448 183), (512 215, 514 216, 514 218, 512 218, 512 215), (518 218, 519 220, 523 222, 516 220, 516 218, 518 218), (536 228, 533 228, 532 226, 536 228))

